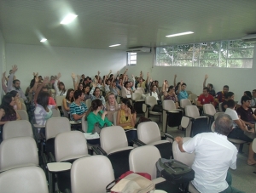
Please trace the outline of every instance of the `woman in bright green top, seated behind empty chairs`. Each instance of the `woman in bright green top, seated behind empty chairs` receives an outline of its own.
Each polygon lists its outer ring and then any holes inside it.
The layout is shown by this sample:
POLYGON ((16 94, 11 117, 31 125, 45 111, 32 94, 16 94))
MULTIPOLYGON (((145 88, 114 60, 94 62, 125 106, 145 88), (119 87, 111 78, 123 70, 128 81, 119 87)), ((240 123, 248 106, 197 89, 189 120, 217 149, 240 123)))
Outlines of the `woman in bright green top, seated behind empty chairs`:
POLYGON ((106 124, 107 126, 112 126, 113 123, 108 120, 106 115, 108 111, 102 111, 102 100, 94 99, 91 102, 91 112, 87 116, 88 129, 87 133, 92 133, 95 124, 98 123, 100 128, 103 128, 106 124))

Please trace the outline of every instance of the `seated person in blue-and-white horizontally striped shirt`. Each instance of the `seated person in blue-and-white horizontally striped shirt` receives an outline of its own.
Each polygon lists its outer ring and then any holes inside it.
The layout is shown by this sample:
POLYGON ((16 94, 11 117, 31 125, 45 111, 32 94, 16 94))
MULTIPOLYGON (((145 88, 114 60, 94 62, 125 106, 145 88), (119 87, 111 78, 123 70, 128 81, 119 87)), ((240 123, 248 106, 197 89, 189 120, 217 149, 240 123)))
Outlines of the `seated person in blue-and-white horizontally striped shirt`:
POLYGON ((82 117, 85 116, 87 106, 84 104, 84 93, 82 90, 76 90, 73 93, 74 101, 69 106, 70 119, 72 121, 81 121, 82 117))

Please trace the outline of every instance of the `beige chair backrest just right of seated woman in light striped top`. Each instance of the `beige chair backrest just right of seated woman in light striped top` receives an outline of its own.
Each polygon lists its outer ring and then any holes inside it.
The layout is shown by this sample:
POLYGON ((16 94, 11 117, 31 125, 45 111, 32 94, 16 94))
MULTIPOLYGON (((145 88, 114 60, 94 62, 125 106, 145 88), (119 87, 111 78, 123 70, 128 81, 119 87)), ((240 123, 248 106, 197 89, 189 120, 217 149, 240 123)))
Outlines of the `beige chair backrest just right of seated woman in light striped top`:
POLYGON ((66 117, 51 117, 45 124, 45 138, 55 138, 58 133, 71 131, 69 120, 66 117))

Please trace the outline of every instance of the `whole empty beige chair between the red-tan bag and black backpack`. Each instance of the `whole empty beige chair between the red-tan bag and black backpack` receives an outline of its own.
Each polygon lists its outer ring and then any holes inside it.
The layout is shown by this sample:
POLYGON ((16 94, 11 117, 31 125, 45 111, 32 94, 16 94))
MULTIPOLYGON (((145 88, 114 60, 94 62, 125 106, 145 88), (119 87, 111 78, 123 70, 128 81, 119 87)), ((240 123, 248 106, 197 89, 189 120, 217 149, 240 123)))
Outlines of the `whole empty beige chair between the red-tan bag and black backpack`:
POLYGON ((166 179, 157 178, 155 163, 160 159, 159 150, 153 145, 144 145, 131 150, 129 156, 130 170, 135 173, 148 173, 151 175, 152 182, 156 190, 166 190, 167 192, 179 192, 178 186, 166 181, 166 179))

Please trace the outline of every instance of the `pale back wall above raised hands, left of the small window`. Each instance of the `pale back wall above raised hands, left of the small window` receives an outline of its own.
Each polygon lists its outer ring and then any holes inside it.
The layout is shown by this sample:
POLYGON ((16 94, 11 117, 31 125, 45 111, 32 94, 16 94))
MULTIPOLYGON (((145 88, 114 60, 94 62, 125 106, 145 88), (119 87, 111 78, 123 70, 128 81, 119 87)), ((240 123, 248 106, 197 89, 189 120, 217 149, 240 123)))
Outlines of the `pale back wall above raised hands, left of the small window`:
POLYGON ((126 64, 125 56, 124 51, 117 50, 6 44, 7 69, 18 65, 15 75, 24 91, 32 80, 32 72, 39 72, 42 77, 61 72, 66 88, 73 88, 72 72, 94 77, 101 71, 103 77, 109 70, 116 73, 122 69, 126 64))

